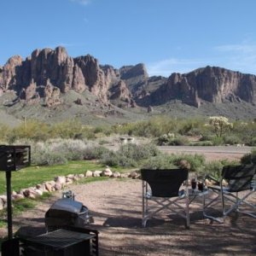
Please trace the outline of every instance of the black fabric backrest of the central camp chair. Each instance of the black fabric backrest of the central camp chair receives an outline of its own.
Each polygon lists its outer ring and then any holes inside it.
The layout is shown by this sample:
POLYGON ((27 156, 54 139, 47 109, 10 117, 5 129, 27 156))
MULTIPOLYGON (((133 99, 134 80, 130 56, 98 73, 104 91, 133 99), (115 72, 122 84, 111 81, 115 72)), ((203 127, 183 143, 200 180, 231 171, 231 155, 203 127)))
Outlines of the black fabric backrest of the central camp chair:
POLYGON ((152 191, 152 196, 174 197, 188 178, 186 169, 142 169, 142 179, 146 181, 152 191))

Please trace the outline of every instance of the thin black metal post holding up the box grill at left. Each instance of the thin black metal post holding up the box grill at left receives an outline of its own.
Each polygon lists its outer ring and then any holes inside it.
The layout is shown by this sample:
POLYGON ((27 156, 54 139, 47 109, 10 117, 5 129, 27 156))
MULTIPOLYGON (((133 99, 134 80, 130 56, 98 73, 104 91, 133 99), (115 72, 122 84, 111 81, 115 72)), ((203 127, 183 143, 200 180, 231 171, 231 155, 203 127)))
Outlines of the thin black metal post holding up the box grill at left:
POLYGON ((12 172, 5 172, 6 175, 6 193, 7 193, 7 223, 8 223, 8 239, 13 238, 13 220, 12 220, 12 191, 11 176, 12 172))

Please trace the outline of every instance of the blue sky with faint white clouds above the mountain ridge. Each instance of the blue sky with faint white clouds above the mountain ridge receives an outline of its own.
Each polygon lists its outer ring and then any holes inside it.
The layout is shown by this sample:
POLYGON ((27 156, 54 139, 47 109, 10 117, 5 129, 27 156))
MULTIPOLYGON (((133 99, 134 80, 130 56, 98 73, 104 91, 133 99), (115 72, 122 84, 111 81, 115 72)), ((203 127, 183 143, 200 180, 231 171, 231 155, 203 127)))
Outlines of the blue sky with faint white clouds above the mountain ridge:
POLYGON ((255 0, 8 0, 0 8, 2 66, 62 45, 117 68, 143 62, 149 75, 207 65, 256 74, 255 0))

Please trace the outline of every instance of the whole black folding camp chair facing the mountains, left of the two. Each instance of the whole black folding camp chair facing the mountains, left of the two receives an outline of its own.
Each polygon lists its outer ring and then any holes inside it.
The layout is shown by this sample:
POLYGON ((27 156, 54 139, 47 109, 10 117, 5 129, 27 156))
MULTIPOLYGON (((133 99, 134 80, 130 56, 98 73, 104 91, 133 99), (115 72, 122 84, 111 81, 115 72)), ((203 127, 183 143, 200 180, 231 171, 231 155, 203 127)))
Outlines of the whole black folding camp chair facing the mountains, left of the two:
POLYGON ((143 227, 157 212, 168 209, 185 219, 189 228, 188 170, 142 169, 143 180, 143 227), (184 183, 184 189, 180 189, 184 183), (149 203, 150 201, 150 203, 149 203), (181 205, 183 201, 183 206, 181 205))

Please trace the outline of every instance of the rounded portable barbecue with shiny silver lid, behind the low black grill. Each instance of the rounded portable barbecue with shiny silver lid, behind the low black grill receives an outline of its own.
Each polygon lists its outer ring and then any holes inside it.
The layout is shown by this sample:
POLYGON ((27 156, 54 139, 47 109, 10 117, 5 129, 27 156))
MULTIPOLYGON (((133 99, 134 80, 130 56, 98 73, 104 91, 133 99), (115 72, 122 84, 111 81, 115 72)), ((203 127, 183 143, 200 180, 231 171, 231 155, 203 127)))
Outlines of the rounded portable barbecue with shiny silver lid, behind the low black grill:
POLYGON ((56 230, 64 226, 84 227, 93 222, 89 210, 81 202, 72 198, 62 198, 49 207, 45 213, 46 230, 56 230))

